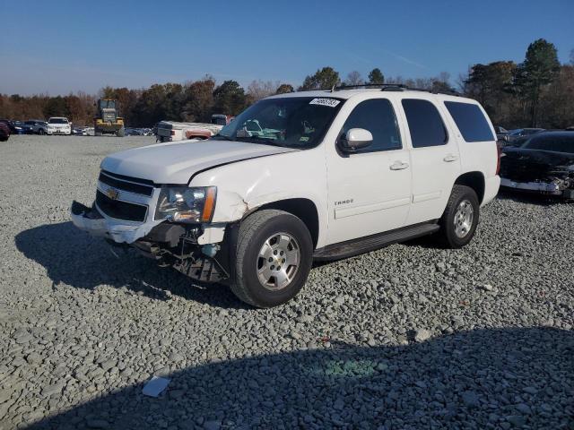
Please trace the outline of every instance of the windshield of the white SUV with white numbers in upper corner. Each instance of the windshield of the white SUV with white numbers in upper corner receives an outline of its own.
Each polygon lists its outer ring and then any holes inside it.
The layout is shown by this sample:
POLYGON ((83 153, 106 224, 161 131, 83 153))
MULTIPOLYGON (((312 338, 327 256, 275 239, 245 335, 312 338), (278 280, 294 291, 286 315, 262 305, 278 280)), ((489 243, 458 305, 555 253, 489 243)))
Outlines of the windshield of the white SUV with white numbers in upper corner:
POLYGON ((341 99, 265 99, 248 107, 213 139, 307 149, 318 145, 343 105, 341 99))

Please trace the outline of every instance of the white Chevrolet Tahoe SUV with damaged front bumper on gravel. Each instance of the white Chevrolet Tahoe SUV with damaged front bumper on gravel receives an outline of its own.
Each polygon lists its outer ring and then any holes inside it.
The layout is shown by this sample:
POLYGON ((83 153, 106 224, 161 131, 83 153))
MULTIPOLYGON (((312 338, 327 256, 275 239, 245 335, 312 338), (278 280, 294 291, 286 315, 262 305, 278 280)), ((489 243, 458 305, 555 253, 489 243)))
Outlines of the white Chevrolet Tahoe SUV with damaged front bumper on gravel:
POLYGON ((110 155, 95 202, 74 202, 71 216, 268 307, 300 291, 314 259, 432 233, 466 245, 498 193, 499 161, 472 99, 396 85, 295 92, 260 100, 210 140, 110 155))

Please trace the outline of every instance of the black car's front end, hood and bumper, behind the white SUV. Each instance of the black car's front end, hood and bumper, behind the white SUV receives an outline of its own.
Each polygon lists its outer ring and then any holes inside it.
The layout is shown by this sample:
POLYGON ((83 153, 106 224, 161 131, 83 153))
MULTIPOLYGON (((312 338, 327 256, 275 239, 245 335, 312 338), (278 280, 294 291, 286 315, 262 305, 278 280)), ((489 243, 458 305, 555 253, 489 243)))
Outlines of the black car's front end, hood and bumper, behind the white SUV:
POLYGON ((574 155, 519 148, 503 155, 500 186, 574 199, 574 155))

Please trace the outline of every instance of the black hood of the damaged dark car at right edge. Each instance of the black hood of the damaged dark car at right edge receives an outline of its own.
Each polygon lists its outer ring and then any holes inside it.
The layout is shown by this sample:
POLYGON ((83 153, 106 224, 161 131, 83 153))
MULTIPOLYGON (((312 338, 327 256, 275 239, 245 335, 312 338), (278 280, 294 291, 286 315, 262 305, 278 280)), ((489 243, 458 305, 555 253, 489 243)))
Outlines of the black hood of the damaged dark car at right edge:
POLYGON ((522 148, 505 148, 503 152, 500 176, 514 181, 545 181, 574 173, 574 154, 522 148))

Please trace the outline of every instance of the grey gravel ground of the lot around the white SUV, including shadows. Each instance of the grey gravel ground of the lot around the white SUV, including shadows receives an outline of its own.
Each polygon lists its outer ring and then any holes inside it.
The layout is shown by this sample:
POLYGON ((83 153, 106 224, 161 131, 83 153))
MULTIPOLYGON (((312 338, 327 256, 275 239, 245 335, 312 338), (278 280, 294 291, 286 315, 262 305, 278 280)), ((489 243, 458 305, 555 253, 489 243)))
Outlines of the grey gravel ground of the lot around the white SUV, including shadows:
POLYGON ((317 265, 256 310, 68 221, 152 142, 0 143, 0 429, 574 428, 574 204, 502 196, 463 250, 317 265))

